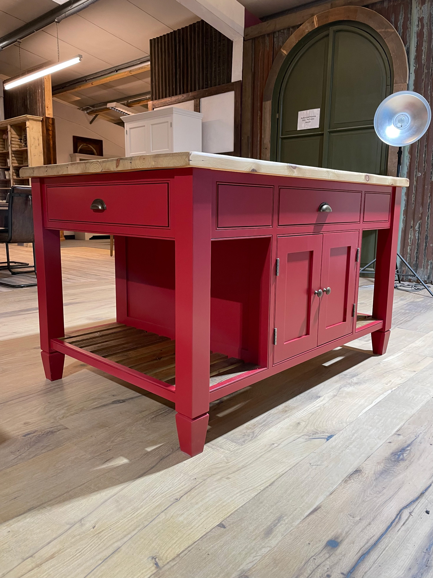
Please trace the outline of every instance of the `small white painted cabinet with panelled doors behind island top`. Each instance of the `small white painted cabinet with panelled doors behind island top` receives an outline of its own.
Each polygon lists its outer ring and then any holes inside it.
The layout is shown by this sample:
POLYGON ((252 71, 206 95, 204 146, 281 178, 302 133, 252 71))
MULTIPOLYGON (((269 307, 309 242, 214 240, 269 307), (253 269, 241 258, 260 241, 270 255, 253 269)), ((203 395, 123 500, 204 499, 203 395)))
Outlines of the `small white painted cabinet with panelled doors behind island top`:
POLYGON ((123 116, 125 154, 201 152, 202 117, 174 106, 123 116))

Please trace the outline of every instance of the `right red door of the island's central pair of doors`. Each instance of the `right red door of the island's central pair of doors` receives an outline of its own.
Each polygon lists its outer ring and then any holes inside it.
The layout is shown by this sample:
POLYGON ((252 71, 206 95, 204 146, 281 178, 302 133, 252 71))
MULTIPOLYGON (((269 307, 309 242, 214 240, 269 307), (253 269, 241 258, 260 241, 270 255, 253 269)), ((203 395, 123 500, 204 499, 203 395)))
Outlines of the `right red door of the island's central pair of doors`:
POLYGON ((358 240, 358 232, 323 235, 320 287, 331 292, 320 298, 318 345, 352 333, 358 240))

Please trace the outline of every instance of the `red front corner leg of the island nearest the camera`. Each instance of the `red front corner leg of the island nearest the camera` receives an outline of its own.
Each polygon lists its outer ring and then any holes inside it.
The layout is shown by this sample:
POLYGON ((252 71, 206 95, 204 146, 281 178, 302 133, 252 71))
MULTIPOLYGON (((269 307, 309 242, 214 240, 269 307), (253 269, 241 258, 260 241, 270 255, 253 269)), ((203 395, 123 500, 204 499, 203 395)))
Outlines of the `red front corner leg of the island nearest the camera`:
POLYGON ((210 171, 176 178, 176 425, 180 449, 203 451, 209 420, 210 171))

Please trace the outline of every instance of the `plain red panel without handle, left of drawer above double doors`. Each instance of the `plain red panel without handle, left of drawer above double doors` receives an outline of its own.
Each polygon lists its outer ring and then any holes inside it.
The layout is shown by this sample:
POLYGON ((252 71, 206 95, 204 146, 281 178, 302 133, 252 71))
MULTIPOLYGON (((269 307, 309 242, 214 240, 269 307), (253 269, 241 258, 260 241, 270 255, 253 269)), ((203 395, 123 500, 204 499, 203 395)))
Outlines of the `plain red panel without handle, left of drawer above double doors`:
POLYGON ((216 227, 272 227, 274 187, 218 184, 216 227))

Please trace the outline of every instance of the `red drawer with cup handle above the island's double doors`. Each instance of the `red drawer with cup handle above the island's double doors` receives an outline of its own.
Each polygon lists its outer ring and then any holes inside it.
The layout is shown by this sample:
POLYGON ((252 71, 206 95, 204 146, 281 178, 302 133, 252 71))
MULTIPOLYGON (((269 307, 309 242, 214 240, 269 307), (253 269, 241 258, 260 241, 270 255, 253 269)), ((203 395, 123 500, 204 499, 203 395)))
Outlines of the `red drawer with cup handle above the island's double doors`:
POLYGON ((329 223, 359 223, 361 191, 322 191, 320 189, 279 189, 278 226, 329 223), (332 213, 319 213, 327 203, 332 213))

